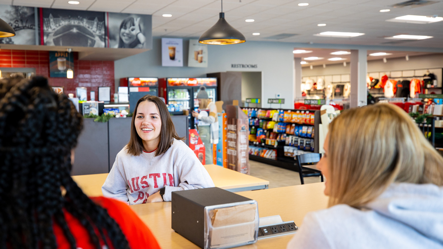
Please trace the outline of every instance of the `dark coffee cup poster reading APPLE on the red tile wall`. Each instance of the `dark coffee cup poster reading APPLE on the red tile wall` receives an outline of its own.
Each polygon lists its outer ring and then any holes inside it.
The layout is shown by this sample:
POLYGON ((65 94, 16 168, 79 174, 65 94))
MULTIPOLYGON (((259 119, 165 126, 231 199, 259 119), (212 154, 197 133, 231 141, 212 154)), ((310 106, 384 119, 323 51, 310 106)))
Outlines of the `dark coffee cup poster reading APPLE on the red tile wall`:
MULTIPOLYGON (((49 76, 66 78, 67 69, 74 70, 74 56, 65 51, 49 51, 49 76)), ((75 72, 74 72, 75 73, 75 72)))

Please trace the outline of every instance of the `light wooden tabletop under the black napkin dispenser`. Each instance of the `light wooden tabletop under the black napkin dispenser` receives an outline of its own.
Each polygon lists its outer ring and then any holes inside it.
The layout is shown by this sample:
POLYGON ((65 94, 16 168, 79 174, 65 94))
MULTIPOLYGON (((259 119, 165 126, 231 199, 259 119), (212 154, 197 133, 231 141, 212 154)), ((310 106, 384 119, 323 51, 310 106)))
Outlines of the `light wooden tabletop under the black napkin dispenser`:
MULTIPOLYGON (((280 215, 283 221, 293 220, 297 226, 300 226, 308 212, 327 207, 328 197, 323 194, 323 189, 324 183, 315 183, 237 192, 237 194, 258 202, 259 217, 280 215)), ((171 229, 171 202, 139 204, 131 208, 151 228, 162 249, 198 248, 171 229)), ((242 248, 283 249, 292 236, 294 235, 262 239, 242 248)))

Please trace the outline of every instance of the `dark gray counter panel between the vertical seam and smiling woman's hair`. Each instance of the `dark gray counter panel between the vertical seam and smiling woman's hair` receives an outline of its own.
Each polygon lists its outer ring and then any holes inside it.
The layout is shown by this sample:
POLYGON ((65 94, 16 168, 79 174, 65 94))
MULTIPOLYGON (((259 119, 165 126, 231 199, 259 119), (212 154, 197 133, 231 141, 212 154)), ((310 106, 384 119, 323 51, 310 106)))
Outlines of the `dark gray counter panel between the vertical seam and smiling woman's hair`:
POLYGON ((114 165, 115 157, 127 145, 131 137, 131 120, 110 119, 109 120, 109 170, 114 165))

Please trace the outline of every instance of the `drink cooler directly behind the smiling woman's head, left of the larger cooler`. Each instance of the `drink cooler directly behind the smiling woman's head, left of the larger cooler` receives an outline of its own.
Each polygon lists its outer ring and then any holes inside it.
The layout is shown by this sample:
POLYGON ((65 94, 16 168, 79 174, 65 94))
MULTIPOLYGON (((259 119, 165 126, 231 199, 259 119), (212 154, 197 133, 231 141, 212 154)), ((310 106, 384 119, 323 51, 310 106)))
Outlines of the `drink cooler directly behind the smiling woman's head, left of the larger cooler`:
POLYGON ((127 86, 129 94, 129 112, 134 112, 137 101, 149 94, 158 96, 158 78, 122 78, 120 86, 127 86))

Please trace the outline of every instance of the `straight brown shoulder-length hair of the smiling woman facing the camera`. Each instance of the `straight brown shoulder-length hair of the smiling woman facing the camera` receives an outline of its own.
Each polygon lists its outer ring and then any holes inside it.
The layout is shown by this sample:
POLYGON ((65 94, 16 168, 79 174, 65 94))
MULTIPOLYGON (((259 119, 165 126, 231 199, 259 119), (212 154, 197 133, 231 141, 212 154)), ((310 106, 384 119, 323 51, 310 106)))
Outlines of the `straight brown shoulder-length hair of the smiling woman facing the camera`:
POLYGON ((150 101, 156 104, 158 112, 160 113, 161 130, 160 130, 160 142, 156 151, 156 156, 165 153, 169 147, 171 147, 174 138, 177 140, 184 140, 184 137, 179 137, 175 131, 174 124, 172 123, 171 116, 169 115, 168 108, 157 96, 145 95, 137 101, 135 105, 134 114, 131 121, 131 138, 127 144, 127 153, 133 156, 139 156, 143 152, 143 142, 135 129, 135 117, 137 116, 138 105, 143 101, 150 101))

